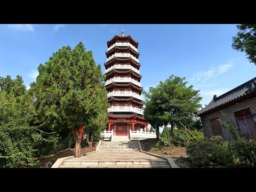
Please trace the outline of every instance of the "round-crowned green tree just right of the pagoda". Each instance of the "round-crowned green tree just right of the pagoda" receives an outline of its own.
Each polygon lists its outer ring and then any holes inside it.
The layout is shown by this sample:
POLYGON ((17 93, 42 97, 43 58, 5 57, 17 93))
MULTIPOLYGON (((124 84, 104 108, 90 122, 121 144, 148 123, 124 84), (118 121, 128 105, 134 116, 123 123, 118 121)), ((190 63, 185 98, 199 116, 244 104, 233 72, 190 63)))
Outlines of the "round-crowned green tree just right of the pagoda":
MULTIPOLYGON (((179 122, 189 122, 196 110, 201 107, 199 90, 193 90, 193 85, 186 86, 185 77, 171 75, 164 82, 160 81, 156 87, 149 87, 145 97, 147 121, 154 119, 158 126, 171 125, 170 135, 173 135, 174 126, 179 122)), ((151 124, 151 123, 150 123, 151 124)))

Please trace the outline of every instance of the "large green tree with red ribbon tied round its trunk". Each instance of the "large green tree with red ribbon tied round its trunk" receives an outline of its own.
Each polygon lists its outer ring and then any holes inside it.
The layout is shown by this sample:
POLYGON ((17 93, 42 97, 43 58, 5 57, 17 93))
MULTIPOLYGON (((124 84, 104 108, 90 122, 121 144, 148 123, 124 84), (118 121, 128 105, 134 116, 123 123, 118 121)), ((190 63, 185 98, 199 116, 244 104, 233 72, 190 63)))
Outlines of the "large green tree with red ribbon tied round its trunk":
POLYGON ((38 72, 34 93, 38 122, 59 134, 68 135, 73 129, 75 157, 80 157, 84 127, 91 127, 91 119, 102 113, 107 115, 107 91, 100 65, 80 42, 73 50, 63 46, 53 53, 45 65, 39 65, 38 72))

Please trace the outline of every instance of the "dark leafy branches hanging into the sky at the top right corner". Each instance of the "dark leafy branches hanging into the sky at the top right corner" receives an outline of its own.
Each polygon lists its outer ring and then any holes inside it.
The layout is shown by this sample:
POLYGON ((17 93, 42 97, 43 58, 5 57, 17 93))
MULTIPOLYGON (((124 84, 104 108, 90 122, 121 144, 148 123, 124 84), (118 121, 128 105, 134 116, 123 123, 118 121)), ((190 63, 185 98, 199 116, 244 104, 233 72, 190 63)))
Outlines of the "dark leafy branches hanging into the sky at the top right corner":
POLYGON ((247 59, 256 65, 256 24, 241 24, 236 27, 238 32, 232 37, 232 48, 245 52, 247 59))

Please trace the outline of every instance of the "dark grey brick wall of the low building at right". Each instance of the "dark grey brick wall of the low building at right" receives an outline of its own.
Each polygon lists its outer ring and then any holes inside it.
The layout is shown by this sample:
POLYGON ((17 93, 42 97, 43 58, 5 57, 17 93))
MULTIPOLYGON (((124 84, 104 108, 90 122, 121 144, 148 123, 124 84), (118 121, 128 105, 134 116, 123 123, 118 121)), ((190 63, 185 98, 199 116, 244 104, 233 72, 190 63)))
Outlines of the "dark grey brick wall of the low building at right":
MULTIPOLYGON (((251 110, 252 114, 256 113, 256 97, 246 100, 246 101, 243 101, 241 103, 236 103, 235 105, 227 107, 225 109, 215 111, 212 114, 202 116, 201 121, 202 121, 202 125, 203 125, 204 137, 210 138, 213 136, 210 120, 213 118, 217 118, 217 117, 219 117, 222 121, 225 121, 225 122, 234 122, 235 130, 238 133, 241 133, 238 123, 236 121, 234 112, 243 110, 246 108, 249 108, 251 110)), ((254 116, 254 122, 256 122, 256 116, 254 116)), ((223 133, 223 140, 233 140, 234 139, 228 130, 222 129, 222 133, 223 133)))

